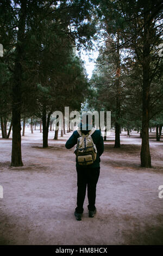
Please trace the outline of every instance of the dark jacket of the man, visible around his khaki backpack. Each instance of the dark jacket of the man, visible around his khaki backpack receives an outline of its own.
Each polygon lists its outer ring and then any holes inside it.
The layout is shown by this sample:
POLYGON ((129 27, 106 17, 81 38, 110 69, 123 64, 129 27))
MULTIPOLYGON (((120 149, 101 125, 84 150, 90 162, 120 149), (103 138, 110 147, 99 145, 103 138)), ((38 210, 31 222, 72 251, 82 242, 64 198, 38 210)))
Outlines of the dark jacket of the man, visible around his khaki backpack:
MULTIPOLYGON (((77 131, 74 131, 71 137, 66 142, 65 147, 67 149, 71 149, 72 147, 74 147, 74 145, 76 145, 78 142, 79 136, 80 136, 79 133, 77 131)), ((89 164, 89 167, 95 168, 95 167, 99 167, 100 156, 104 152, 104 141, 103 141, 102 133, 100 130, 95 130, 95 132, 93 132, 91 137, 97 148, 97 157, 95 162, 93 162, 92 164, 89 164)), ((81 165, 78 164, 77 159, 76 159, 76 166, 81 167, 81 165)))

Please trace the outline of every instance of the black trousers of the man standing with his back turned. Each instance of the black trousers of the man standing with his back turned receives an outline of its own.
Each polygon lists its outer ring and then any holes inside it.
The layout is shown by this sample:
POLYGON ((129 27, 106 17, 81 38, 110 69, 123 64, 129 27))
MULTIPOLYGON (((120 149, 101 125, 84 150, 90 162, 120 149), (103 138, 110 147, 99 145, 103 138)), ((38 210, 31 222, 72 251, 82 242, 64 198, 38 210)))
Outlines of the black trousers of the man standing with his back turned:
POLYGON ((89 211, 94 211, 95 201, 96 201, 96 185, 99 178, 100 167, 89 168, 87 167, 77 167, 77 208, 76 212, 83 213, 83 204, 86 194, 87 186, 87 198, 89 200, 89 205, 87 208, 89 211))

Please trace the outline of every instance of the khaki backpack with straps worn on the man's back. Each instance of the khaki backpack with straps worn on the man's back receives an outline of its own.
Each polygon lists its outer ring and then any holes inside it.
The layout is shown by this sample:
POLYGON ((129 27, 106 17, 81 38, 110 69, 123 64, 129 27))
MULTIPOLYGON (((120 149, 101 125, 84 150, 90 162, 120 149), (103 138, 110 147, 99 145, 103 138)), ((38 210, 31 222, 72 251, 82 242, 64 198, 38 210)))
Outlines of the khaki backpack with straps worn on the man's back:
POLYGON ((95 132, 93 128, 89 133, 84 135, 80 130, 77 130, 80 137, 74 153, 76 154, 77 161, 80 165, 86 166, 93 163, 96 160, 97 149, 95 143, 93 143, 91 135, 95 132))

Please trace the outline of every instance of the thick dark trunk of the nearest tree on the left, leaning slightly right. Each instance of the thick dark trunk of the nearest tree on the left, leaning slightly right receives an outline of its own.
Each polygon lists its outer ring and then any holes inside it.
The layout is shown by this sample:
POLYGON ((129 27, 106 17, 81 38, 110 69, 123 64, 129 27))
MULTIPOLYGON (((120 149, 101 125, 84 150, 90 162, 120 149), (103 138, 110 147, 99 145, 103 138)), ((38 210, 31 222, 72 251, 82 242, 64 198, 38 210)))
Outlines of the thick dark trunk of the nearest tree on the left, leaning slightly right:
POLYGON ((17 25, 17 44, 15 49, 14 83, 12 85, 12 154, 11 166, 23 166, 21 154, 21 87, 22 63, 24 60, 24 32, 26 26, 26 0, 21 0, 17 25))

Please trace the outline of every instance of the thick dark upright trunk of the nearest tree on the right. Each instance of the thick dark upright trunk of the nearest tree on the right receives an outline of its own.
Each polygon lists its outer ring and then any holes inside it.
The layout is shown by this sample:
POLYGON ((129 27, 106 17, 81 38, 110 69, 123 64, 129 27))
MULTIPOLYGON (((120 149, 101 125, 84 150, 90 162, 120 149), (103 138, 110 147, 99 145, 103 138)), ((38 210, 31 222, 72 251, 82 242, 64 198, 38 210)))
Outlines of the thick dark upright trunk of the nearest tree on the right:
POLYGON ((144 35, 143 35, 143 83, 142 83, 142 144, 141 167, 151 167, 151 154, 149 151, 149 88, 150 88, 150 44, 147 8, 144 5, 144 35))

